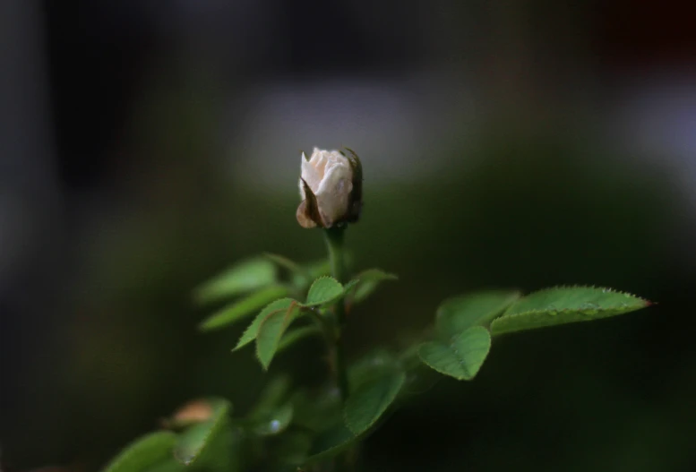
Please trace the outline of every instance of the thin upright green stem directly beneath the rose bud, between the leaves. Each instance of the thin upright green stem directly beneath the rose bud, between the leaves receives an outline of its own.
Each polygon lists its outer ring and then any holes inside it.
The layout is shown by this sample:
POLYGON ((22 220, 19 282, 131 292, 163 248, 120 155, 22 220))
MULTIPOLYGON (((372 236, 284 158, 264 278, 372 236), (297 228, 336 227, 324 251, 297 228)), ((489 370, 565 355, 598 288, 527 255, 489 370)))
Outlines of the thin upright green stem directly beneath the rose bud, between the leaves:
MULTIPOLYGON (((340 283, 345 283, 347 279, 343 252, 344 232, 345 227, 330 227, 324 230, 326 247, 329 251, 329 262, 331 263, 331 274, 340 283)), ((348 369, 341 339, 341 333, 346 324, 346 306, 343 303, 343 298, 336 302, 335 314, 336 329, 334 330, 334 338, 331 339, 332 345, 330 349, 333 356, 333 368, 336 375, 336 383, 339 386, 340 398, 346 401, 348 399, 348 369)))

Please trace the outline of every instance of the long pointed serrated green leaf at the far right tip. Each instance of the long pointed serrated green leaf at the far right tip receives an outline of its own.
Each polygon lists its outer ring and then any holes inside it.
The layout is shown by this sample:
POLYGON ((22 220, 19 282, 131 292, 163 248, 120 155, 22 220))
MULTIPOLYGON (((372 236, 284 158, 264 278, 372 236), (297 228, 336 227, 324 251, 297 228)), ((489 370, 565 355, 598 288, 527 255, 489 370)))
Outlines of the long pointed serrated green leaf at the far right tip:
POLYGON ((534 292, 511 305, 491 323, 493 334, 532 330, 569 322, 589 322, 629 313, 650 302, 610 288, 554 287, 534 292))

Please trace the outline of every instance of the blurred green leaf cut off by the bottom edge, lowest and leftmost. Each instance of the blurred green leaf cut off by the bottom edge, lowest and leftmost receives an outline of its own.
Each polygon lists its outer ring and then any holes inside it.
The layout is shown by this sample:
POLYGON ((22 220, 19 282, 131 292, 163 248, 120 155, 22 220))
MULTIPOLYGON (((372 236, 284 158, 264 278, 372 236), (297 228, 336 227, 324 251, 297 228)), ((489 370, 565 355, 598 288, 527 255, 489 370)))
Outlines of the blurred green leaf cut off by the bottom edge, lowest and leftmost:
POLYGON ((131 442, 112 459, 103 472, 141 472, 154 467, 171 456, 176 444, 176 434, 150 433, 131 442))

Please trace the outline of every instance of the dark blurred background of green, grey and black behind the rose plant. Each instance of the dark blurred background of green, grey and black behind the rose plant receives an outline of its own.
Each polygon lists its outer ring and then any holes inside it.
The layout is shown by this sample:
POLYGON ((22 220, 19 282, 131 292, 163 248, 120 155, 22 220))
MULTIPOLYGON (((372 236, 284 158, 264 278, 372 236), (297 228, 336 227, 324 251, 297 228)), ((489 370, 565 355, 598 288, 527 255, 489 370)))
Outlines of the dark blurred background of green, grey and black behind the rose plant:
MULTIPOLYGON (((676 0, 0 2, 4 467, 95 470, 193 397, 243 411, 261 369, 229 354, 241 327, 196 332, 191 290, 262 251, 322 257, 295 221, 300 150, 348 146, 356 266, 400 275, 356 313, 351 356, 479 288, 658 302, 496 339, 476 382, 370 438, 367 470, 693 470, 694 18, 676 0)), ((291 352, 271 370, 322 372, 320 346, 291 352)))

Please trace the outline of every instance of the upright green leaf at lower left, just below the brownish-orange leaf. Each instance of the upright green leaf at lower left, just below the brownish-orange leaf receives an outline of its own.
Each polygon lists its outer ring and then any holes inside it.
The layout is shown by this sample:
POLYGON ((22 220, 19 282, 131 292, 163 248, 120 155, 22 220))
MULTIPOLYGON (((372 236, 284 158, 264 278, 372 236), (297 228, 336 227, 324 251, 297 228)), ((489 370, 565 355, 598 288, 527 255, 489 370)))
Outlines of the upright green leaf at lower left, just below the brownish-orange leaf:
POLYGON ((211 419, 193 425, 179 435, 174 457, 185 466, 228 462, 225 451, 231 450, 232 431, 229 424, 231 404, 225 399, 211 400, 211 419))

